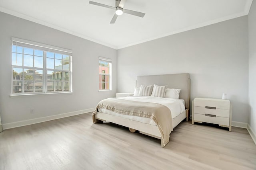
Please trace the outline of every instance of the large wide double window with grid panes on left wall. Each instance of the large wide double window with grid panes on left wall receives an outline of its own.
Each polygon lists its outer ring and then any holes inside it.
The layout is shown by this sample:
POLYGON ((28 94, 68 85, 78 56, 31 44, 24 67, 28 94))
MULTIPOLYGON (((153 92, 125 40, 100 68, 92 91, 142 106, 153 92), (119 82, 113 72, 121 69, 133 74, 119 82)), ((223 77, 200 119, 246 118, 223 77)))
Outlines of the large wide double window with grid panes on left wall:
POLYGON ((12 94, 72 92, 72 51, 12 40, 12 94))

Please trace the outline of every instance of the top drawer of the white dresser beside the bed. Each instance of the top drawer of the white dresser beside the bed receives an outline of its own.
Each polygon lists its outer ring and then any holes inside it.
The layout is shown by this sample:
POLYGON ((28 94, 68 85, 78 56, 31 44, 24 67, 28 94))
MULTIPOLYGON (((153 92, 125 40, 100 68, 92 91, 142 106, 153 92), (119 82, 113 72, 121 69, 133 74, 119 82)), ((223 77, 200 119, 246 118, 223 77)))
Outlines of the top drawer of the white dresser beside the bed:
POLYGON ((230 109, 229 100, 220 100, 220 99, 206 99, 206 98, 195 98, 194 106, 200 107, 216 107, 218 109, 230 109))

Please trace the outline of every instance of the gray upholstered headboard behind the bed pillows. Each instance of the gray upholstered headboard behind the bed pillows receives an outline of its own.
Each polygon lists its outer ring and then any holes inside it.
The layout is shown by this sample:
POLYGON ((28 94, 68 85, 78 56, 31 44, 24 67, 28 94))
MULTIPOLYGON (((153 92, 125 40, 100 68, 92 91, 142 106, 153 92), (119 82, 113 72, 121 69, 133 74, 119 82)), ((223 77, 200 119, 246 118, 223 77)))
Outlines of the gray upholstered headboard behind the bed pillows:
POLYGON ((185 100, 185 107, 190 107, 190 78, 188 73, 163 74, 151 76, 137 76, 137 86, 154 85, 166 86, 167 88, 181 88, 180 99, 185 100))

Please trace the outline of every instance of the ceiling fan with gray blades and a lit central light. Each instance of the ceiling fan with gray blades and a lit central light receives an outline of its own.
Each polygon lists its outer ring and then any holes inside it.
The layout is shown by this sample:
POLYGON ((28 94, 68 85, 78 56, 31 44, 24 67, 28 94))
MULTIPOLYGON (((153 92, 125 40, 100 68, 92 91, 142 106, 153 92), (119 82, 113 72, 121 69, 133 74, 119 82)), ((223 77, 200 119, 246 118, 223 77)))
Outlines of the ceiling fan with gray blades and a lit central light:
POLYGON ((116 13, 114 14, 110 23, 115 23, 116 18, 118 16, 122 15, 123 13, 131 14, 131 15, 138 16, 138 17, 144 17, 145 13, 124 9, 124 4, 125 4, 126 0, 115 0, 115 1, 116 1, 116 7, 108 6, 108 5, 105 5, 105 4, 100 4, 98 2, 93 2, 93 1, 89 1, 89 4, 103 6, 103 7, 106 7, 106 8, 116 10, 116 13))

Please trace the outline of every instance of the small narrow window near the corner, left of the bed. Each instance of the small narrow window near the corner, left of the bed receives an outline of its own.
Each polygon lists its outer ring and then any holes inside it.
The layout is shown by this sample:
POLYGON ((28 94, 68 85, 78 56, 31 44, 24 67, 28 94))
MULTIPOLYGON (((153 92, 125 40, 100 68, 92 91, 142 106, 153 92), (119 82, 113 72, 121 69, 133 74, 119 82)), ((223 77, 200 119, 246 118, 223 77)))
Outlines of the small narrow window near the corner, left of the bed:
POLYGON ((100 57, 99 90, 111 90, 111 59, 100 57))

